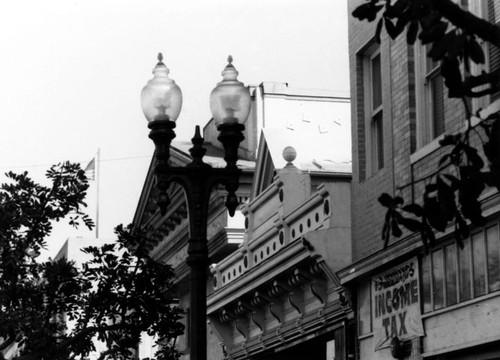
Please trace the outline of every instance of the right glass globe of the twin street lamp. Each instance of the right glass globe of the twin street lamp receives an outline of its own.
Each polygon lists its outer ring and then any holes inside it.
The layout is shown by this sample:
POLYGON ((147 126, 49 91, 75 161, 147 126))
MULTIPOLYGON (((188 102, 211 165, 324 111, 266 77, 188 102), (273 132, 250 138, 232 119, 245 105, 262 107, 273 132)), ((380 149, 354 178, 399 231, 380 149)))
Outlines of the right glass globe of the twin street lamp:
POLYGON ((238 81, 238 71, 233 66, 229 55, 228 64, 222 71, 222 81, 210 94, 210 111, 215 125, 243 124, 250 113, 250 91, 238 81))

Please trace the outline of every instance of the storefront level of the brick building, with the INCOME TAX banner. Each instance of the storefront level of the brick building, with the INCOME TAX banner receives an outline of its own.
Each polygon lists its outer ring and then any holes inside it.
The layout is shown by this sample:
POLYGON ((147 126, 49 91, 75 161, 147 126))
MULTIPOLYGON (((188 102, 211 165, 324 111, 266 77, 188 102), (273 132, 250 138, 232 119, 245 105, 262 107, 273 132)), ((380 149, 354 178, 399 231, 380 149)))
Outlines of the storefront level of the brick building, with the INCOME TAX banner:
POLYGON ((405 359, 500 359, 499 227, 490 221, 463 247, 450 234, 428 253, 402 242, 341 270, 357 293, 358 358, 398 358, 397 342, 405 359))

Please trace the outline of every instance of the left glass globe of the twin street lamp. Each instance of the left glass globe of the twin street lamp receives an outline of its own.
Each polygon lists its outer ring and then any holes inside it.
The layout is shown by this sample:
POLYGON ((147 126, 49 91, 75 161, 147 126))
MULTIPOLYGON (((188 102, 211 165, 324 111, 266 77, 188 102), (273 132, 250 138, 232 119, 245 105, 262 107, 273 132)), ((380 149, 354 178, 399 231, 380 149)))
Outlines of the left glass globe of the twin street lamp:
POLYGON ((158 64, 153 69, 153 78, 142 88, 141 106, 148 122, 156 120, 175 121, 182 107, 182 92, 168 77, 169 70, 158 54, 158 64))

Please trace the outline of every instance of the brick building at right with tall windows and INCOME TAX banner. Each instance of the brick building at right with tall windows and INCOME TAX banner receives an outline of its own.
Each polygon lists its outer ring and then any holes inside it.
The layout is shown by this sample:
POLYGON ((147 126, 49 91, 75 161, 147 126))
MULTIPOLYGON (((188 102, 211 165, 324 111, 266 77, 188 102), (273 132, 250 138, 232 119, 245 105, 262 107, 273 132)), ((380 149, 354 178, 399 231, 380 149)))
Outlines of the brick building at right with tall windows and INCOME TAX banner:
MULTIPOLYGON (((453 226, 436 234, 429 253, 420 236, 381 239, 385 209, 381 193, 418 199, 443 155, 439 140, 465 127, 461 101, 447 97, 438 64, 418 41, 403 33, 391 40, 377 21, 351 16, 363 1, 349 1, 349 54, 353 137, 353 264, 338 274, 357 309, 358 358, 391 359, 397 338, 411 359, 500 358, 500 199, 493 189, 481 196, 484 228, 471 229, 464 249, 453 226)), ((500 21, 500 2, 458 1, 468 10, 500 21)), ((498 49, 485 45, 488 68, 499 66, 498 49)), ((476 68, 473 71, 480 71, 476 68)), ((473 112, 498 111, 498 95, 473 100, 473 112)), ((473 139, 476 145, 479 139, 473 139)))

